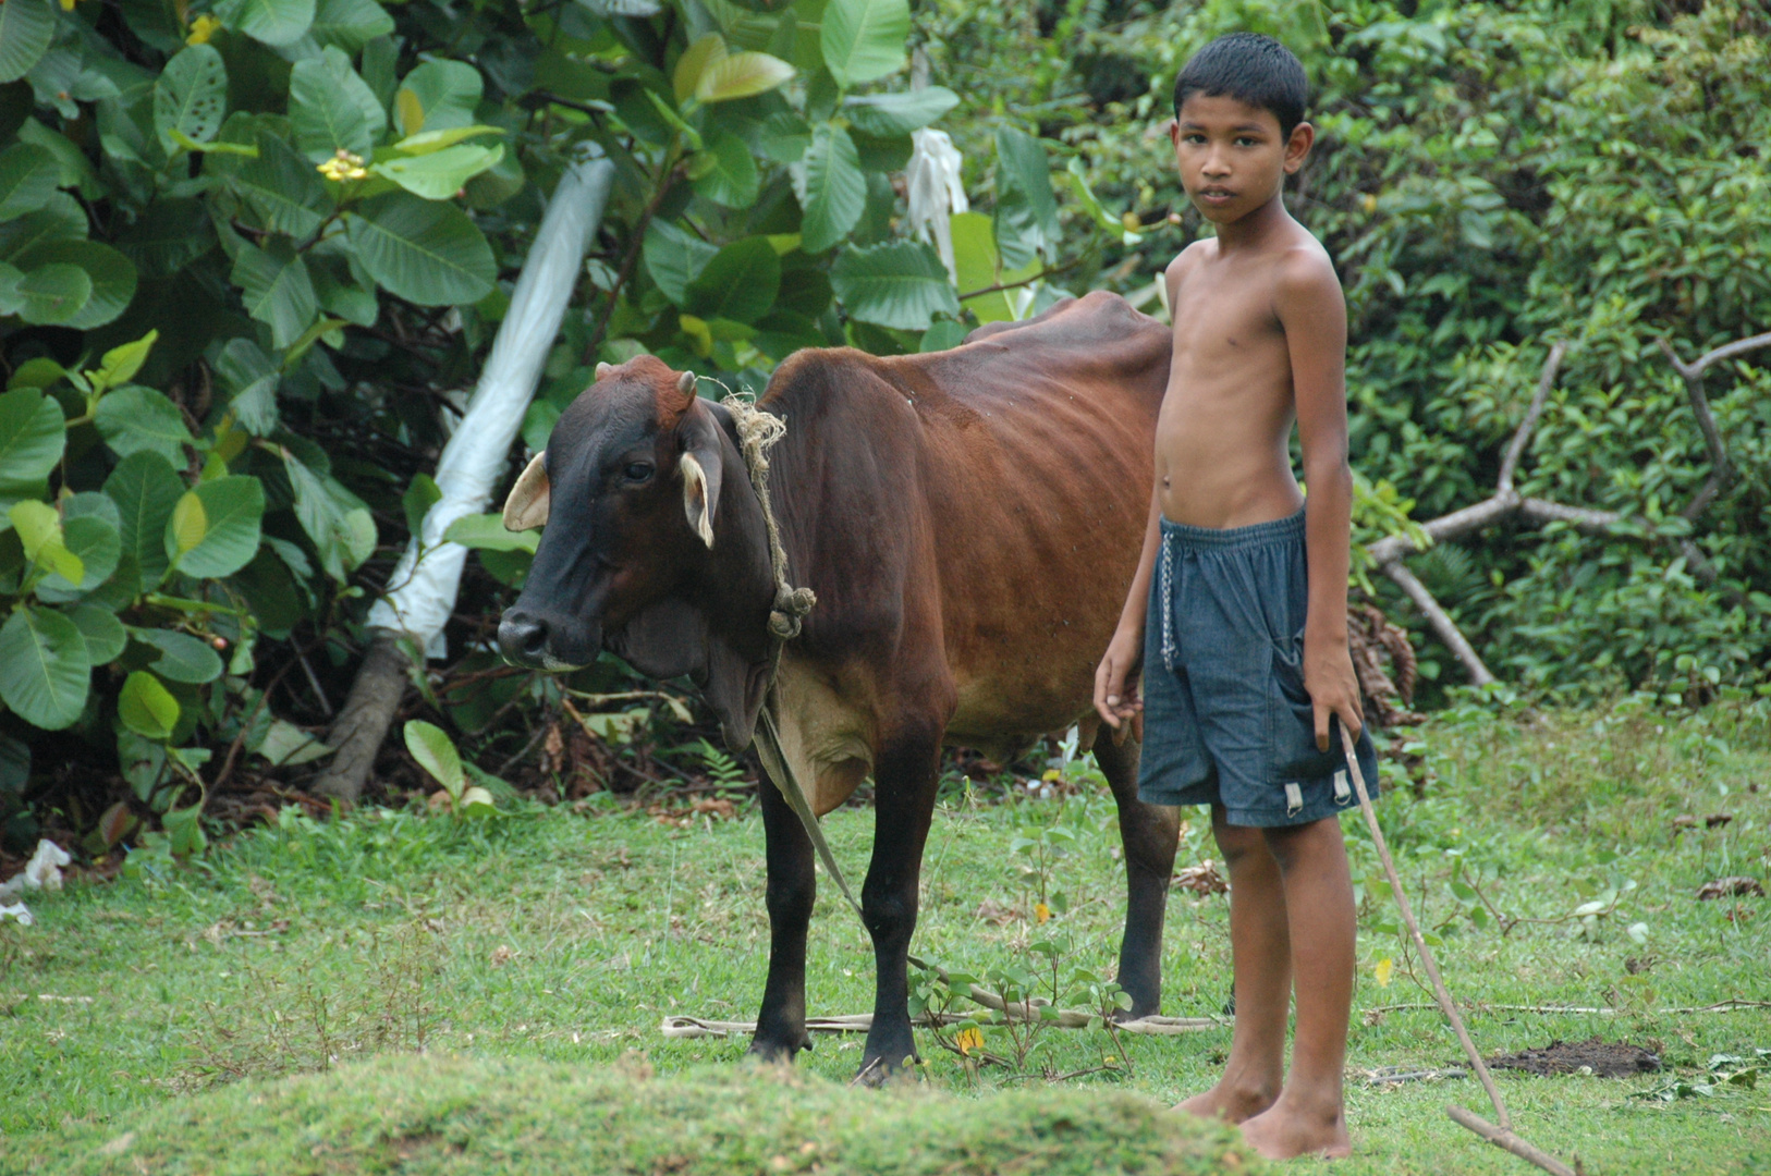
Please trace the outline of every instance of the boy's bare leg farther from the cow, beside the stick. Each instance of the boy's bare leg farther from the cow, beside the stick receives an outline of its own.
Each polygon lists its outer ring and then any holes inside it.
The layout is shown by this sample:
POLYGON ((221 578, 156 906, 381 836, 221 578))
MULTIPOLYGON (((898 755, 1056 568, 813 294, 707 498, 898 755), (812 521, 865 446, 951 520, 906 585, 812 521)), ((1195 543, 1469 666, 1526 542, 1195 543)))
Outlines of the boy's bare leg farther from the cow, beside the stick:
POLYGON ((1351 1146, 1341 1072, 1358 935, 1346 841, 1334 816, 1261 832, 1284 878, 1298 1025, 1286 1087, 1279 1102, 1243 1123, 1243 1135, 1256 1151, 1275 1160, 1344 1157, 1351 1146))

